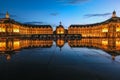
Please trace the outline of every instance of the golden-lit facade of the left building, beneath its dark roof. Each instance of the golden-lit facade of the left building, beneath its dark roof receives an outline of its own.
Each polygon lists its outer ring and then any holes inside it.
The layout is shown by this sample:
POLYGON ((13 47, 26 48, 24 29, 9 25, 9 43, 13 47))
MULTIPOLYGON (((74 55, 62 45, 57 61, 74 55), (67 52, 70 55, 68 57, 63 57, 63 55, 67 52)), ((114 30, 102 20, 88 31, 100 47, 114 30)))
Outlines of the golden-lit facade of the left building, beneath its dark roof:
POLYGON ((53 29, 50 25, 20 25, 16 23, 0 23, 0 32, 4 35, 20 34, 20 35, 32 35, 32 34, 53 34, 53 29))

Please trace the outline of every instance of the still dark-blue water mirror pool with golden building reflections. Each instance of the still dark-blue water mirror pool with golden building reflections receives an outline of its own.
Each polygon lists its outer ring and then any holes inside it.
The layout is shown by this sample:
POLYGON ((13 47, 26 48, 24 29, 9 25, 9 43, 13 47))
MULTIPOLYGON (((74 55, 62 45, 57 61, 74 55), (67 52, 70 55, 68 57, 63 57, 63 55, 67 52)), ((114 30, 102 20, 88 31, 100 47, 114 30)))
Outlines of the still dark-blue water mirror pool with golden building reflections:
POLYGON ((120 39, 1 39, 0 77, 120 80, 120 39))

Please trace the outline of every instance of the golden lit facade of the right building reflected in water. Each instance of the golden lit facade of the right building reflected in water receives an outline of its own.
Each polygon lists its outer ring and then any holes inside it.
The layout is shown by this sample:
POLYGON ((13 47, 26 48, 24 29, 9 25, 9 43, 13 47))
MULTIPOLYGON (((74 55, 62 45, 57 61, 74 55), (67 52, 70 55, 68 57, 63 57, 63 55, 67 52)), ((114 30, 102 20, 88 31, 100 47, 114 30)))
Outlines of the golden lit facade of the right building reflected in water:
POLYGON ((105 51, 120 51, 120 38, 83 38, 69 40, 71 47, 95 47, 105 51))

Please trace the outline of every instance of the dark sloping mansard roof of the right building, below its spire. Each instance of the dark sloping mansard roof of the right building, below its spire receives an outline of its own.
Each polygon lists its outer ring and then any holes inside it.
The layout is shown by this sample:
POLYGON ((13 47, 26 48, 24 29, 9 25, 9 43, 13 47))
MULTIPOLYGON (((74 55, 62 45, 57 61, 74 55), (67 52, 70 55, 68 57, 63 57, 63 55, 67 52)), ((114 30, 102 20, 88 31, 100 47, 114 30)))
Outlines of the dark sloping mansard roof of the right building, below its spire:
POLYGON ((85 24, 85 25, 70 25, 70 27, 93 27, 93 26, 98 26, 102 24, 107 24, 110 22, 115 22, 115 23, 120 23, 120 17, 112 17, 106 21, 100 22, 100 23, 95 23, 95 24, 85 24))

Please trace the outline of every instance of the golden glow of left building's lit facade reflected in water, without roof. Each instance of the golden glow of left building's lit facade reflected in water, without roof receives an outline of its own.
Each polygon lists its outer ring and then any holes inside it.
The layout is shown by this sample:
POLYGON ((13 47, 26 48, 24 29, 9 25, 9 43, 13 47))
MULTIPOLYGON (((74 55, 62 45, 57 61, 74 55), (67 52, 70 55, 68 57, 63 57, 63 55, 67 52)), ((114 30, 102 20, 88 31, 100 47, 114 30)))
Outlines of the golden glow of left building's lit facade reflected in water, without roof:
POLYGON ((48 47, 52 46, 52 40, 3 40, 0 42, 0 51, 5 51, 8 48, 10 50, 19 50, 26 47, 48 47))

